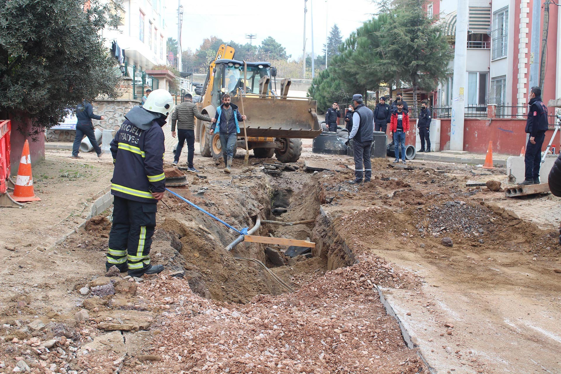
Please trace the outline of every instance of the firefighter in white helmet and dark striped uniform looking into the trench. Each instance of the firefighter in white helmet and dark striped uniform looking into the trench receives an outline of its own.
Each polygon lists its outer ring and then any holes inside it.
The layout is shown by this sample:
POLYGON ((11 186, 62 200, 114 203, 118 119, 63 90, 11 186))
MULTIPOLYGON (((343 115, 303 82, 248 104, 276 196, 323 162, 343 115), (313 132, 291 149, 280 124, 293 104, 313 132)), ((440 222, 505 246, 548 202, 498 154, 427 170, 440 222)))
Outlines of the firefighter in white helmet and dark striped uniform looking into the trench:
POLYGON ((163 265, 150 264, 150 245, 156 226, 156 204, 164 196, 164 132, 173 109, 166 90, 154 90, 142 107, 125 114, 111 142, 115 169, 111 179, 113 225, 105 268, 117 266, 130 276, 157 274, 163 265))

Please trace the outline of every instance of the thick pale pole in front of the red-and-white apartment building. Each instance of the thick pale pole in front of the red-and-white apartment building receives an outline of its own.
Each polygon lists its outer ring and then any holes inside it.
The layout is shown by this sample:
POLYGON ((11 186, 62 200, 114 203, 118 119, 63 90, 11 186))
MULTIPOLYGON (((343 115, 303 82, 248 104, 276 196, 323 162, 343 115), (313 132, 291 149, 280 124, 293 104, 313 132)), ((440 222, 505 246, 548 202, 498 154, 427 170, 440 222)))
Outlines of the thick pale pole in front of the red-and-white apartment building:
POLYGON ((456 16, 456 45, 454 45, 452 118, 450 120, 450 150, 452 151, 463 151, 468 16, 468 0, 458 0, 458 13, 456 16))

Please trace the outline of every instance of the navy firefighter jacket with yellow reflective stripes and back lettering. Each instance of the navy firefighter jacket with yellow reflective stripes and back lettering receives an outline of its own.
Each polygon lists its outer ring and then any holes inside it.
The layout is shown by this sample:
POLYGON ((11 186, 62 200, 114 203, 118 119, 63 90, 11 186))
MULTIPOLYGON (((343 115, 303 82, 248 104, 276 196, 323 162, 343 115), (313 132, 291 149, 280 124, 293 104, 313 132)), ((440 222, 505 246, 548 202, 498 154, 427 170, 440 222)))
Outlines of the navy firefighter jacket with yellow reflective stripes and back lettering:
POLYGON ((125 114, 125 122, 111 141, 112 195, 155 204, 152 192, 165 191, 165 119, 160 117, 140 106, 125 114))

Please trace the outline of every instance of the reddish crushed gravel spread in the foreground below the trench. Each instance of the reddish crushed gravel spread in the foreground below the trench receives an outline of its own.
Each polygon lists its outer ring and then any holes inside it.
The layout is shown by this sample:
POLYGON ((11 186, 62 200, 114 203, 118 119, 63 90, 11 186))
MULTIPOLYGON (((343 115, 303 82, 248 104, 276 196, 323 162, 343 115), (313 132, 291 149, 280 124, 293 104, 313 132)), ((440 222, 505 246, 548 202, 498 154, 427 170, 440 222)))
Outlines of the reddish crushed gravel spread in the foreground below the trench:
POLYGON ((184 280, 160 277, 139 290, 165 311, 143 352, 159 361, 133 358, 121 372, 426 372, 364 279, 370 271, 366 264, 339 269, 294 294, 259 295, 245 306, 210 302, 184 280))

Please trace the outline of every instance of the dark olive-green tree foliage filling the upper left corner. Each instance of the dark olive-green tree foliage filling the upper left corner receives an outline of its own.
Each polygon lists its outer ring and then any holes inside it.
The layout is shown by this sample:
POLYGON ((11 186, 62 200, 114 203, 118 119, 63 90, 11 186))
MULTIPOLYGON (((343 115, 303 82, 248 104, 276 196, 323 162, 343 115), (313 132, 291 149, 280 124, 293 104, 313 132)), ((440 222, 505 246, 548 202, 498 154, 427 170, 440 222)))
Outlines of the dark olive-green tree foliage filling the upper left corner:
POLYGON ((66 109, 117 96, 120 72, 99 33, 117 27, 113 6, 80 0, 9 0, 0 7, 0 112, 33 119, 34 133, 66 109))

